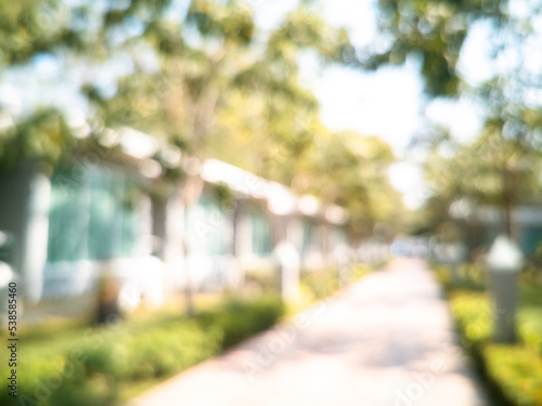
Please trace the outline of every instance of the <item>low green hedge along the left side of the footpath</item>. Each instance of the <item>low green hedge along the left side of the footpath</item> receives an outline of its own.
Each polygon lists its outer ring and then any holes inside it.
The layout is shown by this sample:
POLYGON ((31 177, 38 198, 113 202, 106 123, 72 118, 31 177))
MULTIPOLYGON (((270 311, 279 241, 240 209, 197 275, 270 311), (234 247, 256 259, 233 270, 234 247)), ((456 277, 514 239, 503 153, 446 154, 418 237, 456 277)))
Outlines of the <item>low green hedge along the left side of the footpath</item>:
MULTIPOLYGON (((280 298, 228 301, 196 319, 138 326, 104 326, 82 343, 51 357, 39 345, 25 356, 21 341, 18 396, 0 393, 1 405, 93 406, 118 404, 122 383, 164 378, 220 353, 272 326, 284 313, 280 298)), ((37 345, 37 346, 36 346, 37 345)), ((9 377, 5 363, 2 377, 9 377)))

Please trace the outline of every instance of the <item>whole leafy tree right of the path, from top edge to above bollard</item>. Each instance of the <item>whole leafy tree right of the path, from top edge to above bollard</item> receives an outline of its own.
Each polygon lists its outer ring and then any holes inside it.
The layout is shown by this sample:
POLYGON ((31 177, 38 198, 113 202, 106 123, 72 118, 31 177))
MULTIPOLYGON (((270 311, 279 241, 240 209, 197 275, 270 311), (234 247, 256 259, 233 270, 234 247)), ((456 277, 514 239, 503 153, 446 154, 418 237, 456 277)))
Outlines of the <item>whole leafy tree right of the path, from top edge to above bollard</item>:
MULTIPOLYGON (((513 235, 513 209, 532 202, 540 189, 535 171, 542 105, 532 95, 541 77, 531 55, 540 50, 537 22, 542 8, 538 2, 507 0, 380 0, 378 11, 380 41, 370 50, 366 67, 418 57, 429 100, 469 95, 485 109, 477 140, 457 146, 453 158, 433 154, 426 163, 434 221, 446 222, 450 206, 468 199, 502 209, 504 231, 513 235), (480 51, 492 64, 492 77, 475 83, 462 76, 457 63, 465 39, 482 23, 489 38, 480 51)), ((440 135, 434 132, 433 144, 449 143, 440 135)))

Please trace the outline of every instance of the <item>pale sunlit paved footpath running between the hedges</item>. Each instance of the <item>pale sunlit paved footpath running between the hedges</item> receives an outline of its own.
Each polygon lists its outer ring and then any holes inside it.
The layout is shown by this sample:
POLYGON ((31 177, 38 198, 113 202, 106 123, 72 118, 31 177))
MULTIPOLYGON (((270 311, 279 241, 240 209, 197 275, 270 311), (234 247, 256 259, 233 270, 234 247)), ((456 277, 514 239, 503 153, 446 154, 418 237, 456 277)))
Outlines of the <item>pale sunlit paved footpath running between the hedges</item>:
POLYGON ((397 259, 130 406, 487 405, 454 341, 430 273, 397 259))

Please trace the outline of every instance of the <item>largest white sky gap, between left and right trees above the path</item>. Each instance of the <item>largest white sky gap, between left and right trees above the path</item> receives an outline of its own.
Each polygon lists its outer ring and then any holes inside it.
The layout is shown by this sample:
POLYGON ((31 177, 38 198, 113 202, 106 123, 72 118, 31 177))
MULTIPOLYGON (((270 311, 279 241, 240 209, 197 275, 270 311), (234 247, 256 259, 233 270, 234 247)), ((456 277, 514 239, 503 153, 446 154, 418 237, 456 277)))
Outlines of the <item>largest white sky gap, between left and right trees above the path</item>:
POLYGON ((402 162, 391 168, 391 182, 403 193, 406 207, 420 207, 424 201, 422 172, 406 153, 412 135, 421 126, 422 83, 413 66, 386 68, 371 75, 328 69, 314 83, 314 91, 322 103, 322 120, 326 126, 379 135, 393 147, 402 162))

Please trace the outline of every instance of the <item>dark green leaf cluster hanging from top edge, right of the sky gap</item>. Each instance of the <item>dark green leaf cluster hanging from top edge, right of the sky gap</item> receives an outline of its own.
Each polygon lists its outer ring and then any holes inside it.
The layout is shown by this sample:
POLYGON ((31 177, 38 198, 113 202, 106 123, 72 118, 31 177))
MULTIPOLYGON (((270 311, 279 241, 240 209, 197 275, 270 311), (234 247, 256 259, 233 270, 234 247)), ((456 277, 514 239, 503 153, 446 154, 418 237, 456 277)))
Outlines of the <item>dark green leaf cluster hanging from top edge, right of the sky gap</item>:
POLYGON ((379 38, 363 65, 402 65, 422 58, 421 74, 430 96, 459 95, 457 61, 469 29, 480 21, 502 26, 507 0, 378 0, 379 38))

